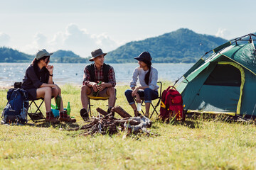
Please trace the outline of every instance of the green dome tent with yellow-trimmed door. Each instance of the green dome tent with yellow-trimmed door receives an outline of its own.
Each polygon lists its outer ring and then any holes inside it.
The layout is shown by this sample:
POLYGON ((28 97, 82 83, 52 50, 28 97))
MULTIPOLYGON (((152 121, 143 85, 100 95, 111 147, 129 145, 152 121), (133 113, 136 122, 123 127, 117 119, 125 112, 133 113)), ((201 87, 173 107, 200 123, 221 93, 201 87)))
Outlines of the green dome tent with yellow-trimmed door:
POLYGON ((188 113, 256 115, 256 51, 248 34, 206 52, 177 90, 188 113))

